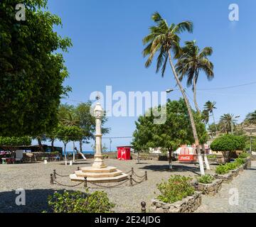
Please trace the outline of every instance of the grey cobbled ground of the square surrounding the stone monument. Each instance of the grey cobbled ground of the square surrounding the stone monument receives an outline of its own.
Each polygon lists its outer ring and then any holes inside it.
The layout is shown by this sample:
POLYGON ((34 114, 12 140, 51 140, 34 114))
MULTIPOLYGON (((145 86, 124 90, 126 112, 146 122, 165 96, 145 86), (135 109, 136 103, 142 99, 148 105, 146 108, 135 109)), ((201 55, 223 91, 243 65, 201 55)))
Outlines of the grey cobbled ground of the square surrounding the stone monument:
MULTIPOLYGON (((1 212, 41 212, 48 211, 47 197, 57 190, 69 189, 84 191, 83 185, 77 187, 63 187, 57 184, 50 184, 50 173, 56 170, 60 175, 69 175, 79 167, 90 166, 93 160, 80 160, 75 165, 65 166, 63 162, 48 162, 31 164, 16 164, 16 165, 0 165, 0 213, 1 212), (26 206, 17 206, 15 203, 15 190, 23 188, 26 190, 26 206)), ((137 175, 148 173, 148 180, 141 184, 136 184, 133 187, 128 187, 128 183, 111 189, 102 189, 88 184, 89 191, 102 190, 107 192, 109 198, 116 204, 115 212, 140 212, 141 201, 146 201, 146 206, 150 206, 150 201, 158 193, 156 184, 161 182, 161 179, 168 179, 170 175, 186 175, 193 179, 198 175, 198 165, 181 164, 174 162, 174 170, 169 171, 169 165, 166 161, 144 160, 137 164, 136 160, 119 161, 105 160, 107 165, 117 167, 123 172, 128 172, 134 167, 137 175), (155 194, 156 193, 156 194, 155 194)), ((215 166, 212 166, 214 169, 215 166)), ((213 170, 208 171, 213 173, 213 170)), ((69 177, 58 177, 57 180, 63 184, 73 185, 75 182, 70 182, 69 177)), ((139 180, 139 179, 137 179, 139 180)), ((114 183, 117 184, 117 183, 114 183)))

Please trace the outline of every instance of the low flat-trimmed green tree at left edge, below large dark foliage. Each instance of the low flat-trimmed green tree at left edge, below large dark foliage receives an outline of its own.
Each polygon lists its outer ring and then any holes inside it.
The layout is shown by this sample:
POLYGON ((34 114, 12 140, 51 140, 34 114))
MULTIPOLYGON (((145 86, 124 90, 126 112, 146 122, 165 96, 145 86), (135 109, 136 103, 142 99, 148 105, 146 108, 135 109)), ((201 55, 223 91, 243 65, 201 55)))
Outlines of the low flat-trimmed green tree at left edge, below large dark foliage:
POLYGON ((32 139, 28 136, 22 136, 22 137, 4 137, 0 136, 0 147, 4 148, 6 150, 10 150, 11 152, 14 152, 17 147, 22 145, 31 145, 32 139))

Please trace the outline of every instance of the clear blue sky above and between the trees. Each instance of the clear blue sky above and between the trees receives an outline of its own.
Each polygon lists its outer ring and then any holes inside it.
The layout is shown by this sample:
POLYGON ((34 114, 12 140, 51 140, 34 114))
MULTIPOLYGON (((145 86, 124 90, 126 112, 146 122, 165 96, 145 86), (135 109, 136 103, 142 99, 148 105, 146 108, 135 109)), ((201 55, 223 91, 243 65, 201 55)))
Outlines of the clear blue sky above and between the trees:
MULTIPOLYGON (((107 85, 112 85, 113 92, 161 92, 175 86, 171 70, 161 78, 155 73, 155 64, 149 69, 144 67, 142 38, 152 25, 154 11, 159 11, 169 23, 193 21, 193 34, 183 33, 181 44, 197 40, 201 47, 213 47, 210 60, 215 66, 215 78, 208 82, 205 74, 201 74, 198 89, 256 82, 255 0, 49 0, 48 9, 62 18, 63 28, 55 30, 73 41, 73 48, 65 54, 70 72, 65 84, 73 92, 71 100, 63 103, 87 101, 91 92, 104 93, 107 85), (239 6, 240 21, 228 20, 228 6, 233 3, 239 6)), ((242 121, 248 112, 256 109, 255 86, 198 91, 198 104, 202 107, 208 100, 216 101, 216 119, 231 113, 240 115, 242 121)), ((168 97, 180 96, 176 91, 168 97)), ((109 118, 106 126, 111 132, 106 136, 132 136, 136 119, 109 118)), ((103 140, 104 143, 109 147, 109 140, 103 140)), ((112 148, 127 144, 129 139, 113 139, 112 148)), ((70 143, 68 150, 71 148, 70 143)), ((84 150, 91 150, 90 145, 85 145, 84 150)))

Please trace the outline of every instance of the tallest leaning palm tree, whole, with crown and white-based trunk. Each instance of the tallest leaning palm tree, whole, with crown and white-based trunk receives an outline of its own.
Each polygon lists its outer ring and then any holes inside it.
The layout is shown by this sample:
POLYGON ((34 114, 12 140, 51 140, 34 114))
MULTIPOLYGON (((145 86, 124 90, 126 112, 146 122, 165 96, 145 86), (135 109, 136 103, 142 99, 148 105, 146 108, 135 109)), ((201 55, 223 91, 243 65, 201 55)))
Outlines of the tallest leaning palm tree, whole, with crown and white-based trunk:
POLYGON ((172 59, 172 53, 174 54, 174 58, 177 58, 181 55, 181 48, 179 46, 180 38, 178 35, 183 31, 188 31, 189 33, 192 33, 193 23, 191 23, 190 21, 183 21, 178 24, 171 23, 171 25, 169 26, 166 20, 164 20, 158 12, 154 13, 151 18, 154 21, 155 26, 151 26, 149 28, 149 35, 146 35, 146 37, 143 39, 143 44, 146 45, 146 48, 144 48, 143 51, 143 55, 144 57, 149 56, 146 60, 145 66, 149 67, 154 58, 154 55, 156 54, 156 52, 159 52, 156 63, 156 72, 159 72, 159 70, 161 69, 161 75, 162 77, 164 77, 166 64, 169 60, 171 70, 174 73, 174 78, 176 79, 178 87, 183 95, 183 99, 186 102, 189 118, 191 121, 193 137, 196 143, 196 150, 198 153, 201 175, 204 175, 203 158, 201 156, 201 150, 199 147, 196 124, 193 118, 191 106, 188 102, 188 98, 186 96, 185 90, 183 89, 181 81, 178 79, 178 74, 175 70, 174 62, 172 59))

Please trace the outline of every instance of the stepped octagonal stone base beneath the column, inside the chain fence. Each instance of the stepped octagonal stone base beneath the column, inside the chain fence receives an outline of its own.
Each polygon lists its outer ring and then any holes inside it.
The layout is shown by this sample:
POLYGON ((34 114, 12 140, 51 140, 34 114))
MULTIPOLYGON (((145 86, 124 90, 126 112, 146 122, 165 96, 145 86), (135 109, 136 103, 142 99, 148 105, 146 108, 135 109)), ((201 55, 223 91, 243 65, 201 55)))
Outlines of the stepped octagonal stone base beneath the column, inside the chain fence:
POLYGON ((75 171, 74 174, 70 175, 70 179, 74 182, 83 182, 87 177, 88 182, 120 182, 128 178, 128 175, 117 170, 117 167, 104 167, 104 168, 95 168, 95 167, 82 167, 81 170, 75 171))

